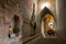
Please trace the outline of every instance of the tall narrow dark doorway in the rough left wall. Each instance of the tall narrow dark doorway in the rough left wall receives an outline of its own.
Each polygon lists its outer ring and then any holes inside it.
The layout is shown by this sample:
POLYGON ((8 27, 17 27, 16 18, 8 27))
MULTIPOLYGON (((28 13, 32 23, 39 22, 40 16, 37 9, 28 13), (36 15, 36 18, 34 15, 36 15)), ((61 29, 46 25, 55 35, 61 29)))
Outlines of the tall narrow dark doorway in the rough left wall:
POLYGON ((13 33, 15 33, 15 36, 19 36, 20 33, 20 18, 18 15, 14 15, 14 29, 13 33))

